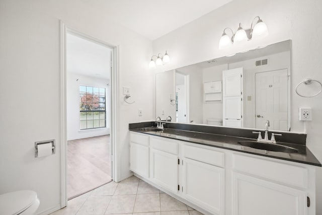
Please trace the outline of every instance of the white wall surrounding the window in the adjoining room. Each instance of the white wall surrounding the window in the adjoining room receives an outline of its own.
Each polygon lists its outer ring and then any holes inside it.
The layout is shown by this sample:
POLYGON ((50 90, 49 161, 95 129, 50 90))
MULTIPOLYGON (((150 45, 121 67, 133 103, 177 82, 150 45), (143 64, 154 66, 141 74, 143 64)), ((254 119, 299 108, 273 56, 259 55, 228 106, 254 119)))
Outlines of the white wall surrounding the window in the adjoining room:
POLYGON ((110 80, 67 72, 67 140, 110 134, 110 80), (77 81, 78 80, 78 81, 77 81), (79 129, 79 85, 106 89, 106 128, 79 129))

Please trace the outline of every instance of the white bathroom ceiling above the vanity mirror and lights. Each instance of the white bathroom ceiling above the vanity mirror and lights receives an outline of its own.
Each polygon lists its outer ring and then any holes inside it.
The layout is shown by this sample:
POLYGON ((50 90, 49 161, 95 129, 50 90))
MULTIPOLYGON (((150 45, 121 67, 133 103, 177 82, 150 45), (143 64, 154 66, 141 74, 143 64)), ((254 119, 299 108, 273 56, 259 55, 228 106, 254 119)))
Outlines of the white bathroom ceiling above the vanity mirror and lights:
POLYGON ((155 40, 232 0, 82 0, 114 22, 155 40))

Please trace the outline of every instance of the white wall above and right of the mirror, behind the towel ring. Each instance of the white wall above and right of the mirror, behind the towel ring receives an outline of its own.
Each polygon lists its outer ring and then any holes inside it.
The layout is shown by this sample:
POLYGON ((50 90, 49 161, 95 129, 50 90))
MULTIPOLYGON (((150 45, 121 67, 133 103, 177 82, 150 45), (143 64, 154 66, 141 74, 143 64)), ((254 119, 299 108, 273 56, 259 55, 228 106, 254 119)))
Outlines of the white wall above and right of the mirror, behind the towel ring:
MULTIPOLYGON (((231 53, 254 49, 284 40, 292 40, 291 64, 291 129, 303 132, 304 124, 298 121, 298 107, 313 108, 314 119, 308 122, 307 147, 322 161, 322 94, 314 98, 302 98, 295 94, 295 86, 304 78, 322 81, 322 1, 320 0, 235 0, 155 41, 153 52, 165 49, 171 53, 172 63, 165 70, 214 59, 231 53), (250 7, 251 6, 251 7, 250 7), (263 40, 251 40, 245 45, 218 50, 218 42, 226 27, 237 29, 238 23, 250 26, 260 16, 267 24, 269 36, 263 40), (178 40, 178 38, 183 38, 178 40), (198 54, 196 54, 198 53, 198 54)), ((316 214, 322 214, 322 168, 316 168, 316 214)))

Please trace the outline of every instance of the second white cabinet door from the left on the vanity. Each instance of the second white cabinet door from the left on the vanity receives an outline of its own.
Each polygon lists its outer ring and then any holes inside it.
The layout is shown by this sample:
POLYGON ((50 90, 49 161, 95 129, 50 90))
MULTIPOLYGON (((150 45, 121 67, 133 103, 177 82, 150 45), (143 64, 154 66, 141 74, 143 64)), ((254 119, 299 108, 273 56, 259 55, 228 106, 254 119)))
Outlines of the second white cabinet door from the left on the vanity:
POLYGON ((168 190, 178 192, 178 156, 152 149, 151 180, 168 190))

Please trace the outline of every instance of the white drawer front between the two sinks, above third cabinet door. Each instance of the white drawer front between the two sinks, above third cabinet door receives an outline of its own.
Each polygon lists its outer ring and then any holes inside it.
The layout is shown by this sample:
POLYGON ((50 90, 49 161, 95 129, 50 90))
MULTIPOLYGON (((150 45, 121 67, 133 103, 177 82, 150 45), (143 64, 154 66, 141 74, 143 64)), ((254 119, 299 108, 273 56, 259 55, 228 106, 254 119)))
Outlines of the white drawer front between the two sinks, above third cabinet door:
POLYGON ((185 158, 190 158, 192 160, 201 161, 218 167, 225 166, 225 154, 223 152, 185 145, 183 155, 185 158))

